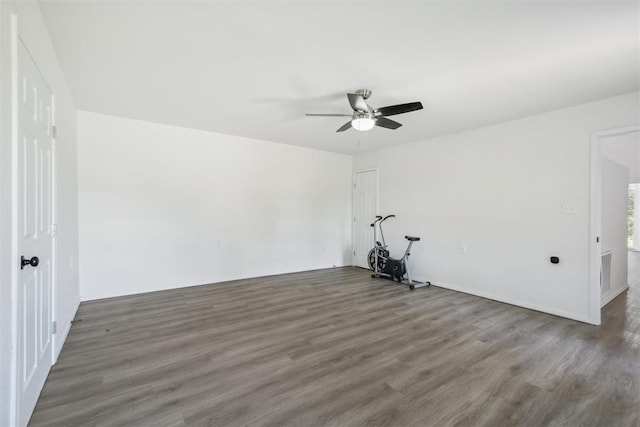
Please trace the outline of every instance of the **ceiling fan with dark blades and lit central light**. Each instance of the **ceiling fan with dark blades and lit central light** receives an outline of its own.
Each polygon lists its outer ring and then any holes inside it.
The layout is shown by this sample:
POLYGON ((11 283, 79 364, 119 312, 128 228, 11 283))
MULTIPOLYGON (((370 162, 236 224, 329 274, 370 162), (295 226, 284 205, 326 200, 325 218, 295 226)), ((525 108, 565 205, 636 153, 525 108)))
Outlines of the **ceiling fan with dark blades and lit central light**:
POLYGON ((305 116, 324 116, 324 117, 351 117, 344 125, 340 126, 336 132, 344 132, 349 128, 356 130, 369 130, 374 126, 380 126, 387 129, 398 129, 402 124, 387 119, 387 116, 395 116, 396 114, 408 113, 410 111, 422 110, 421 102, 409 102, 407 104, 390 105, 382 108, 371 108, 366 103, 366 99, 371 96, 369 89, 360 89, 355 93, 348 93, 347 99, 351 108, 353 108, 352 114, 305 114, 305 116))

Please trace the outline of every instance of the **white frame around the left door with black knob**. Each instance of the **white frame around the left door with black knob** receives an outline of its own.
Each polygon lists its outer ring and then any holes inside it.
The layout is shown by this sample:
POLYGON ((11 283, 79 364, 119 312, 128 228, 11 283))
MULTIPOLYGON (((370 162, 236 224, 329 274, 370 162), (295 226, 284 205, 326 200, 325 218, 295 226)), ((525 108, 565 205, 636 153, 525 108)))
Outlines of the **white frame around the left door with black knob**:
MULTIPOLYGON (((17 425, 20 418, 20 410, 21 410, 21 395, 19 393, 18 387, 18 355, 20 352, 18 351, 18 334, 20 331, 18 330, 19 322, 19 304, 18 304, 18 292, 19 292, 19 283, 20 283, 20 269, 18 266, 20 265, 20 254, 21 254, 21 242, 20 242, 20 164, 19 164, 19 141, 18 141, 18 93, 19 93, 19 85, 18 85, 18 47, 19 43, 22 43, 27 53, 31 56, 34 61, 36 67, 40 71, 45 83, 49 87, 49 91, 52 95, 51 100, 51 125, 56 126, 56 115, 55 115, 55 93, 51 88, 51 85, 48 84, 46 80, 45 73, 42 72, 40 67, 38 67, 38 63, 33 55, 32 51, 29 49, 29 44, 25 41, 25 39, 21 36, 19 19, 18 15, 15 12, 11 13, 11 28, 10 28, 10 55, 11 55, 11 367, 10 367, 10 396, 9 396, 9 405, 10 405, 10 423, 12 425, 17 425)), ((51 222, 52 224, 57 223, 57 156, 56 156, 56 135, 52 135, 52 144, 51 144, 51 222)), ((55 321, 55 297, 57 291, 57 238, 56 238, 56 230, 52 233, 51 239, 51 292, 50 292, 50 313, 51 318, 50 322, 55 321)), ((56 358, 56 332, 51 330, 51 358, 49 359, 49 367, 53 366, 56 358)))

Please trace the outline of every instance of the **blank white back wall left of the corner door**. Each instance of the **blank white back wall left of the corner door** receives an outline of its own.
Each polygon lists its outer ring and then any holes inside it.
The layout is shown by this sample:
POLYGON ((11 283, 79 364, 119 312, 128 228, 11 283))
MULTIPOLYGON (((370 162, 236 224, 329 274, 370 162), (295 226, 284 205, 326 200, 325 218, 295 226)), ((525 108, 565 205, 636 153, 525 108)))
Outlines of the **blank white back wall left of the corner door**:
POLYGON ((352 157, 78 112, 82 299, 350 264, 352 157))

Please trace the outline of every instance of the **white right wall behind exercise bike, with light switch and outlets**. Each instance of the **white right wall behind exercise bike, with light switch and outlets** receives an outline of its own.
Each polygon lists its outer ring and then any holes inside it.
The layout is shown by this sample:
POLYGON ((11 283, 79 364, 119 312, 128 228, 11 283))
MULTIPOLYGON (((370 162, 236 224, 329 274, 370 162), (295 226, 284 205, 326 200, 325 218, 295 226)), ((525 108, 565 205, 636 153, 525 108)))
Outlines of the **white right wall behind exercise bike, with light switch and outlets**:
POLYGON ((363 153, 354 167, 379 168, 392 249, 422 237, 418 279, 588 321, 590 132, 639 118, 636 92, 363 153))

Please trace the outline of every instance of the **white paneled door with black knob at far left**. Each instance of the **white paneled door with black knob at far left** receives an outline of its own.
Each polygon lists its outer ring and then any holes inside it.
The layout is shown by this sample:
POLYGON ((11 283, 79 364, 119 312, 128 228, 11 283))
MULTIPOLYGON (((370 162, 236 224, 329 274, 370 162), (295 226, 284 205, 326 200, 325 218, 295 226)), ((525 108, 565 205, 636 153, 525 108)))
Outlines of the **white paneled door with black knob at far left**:
POLYGON ((26 425, 53 361, 53 95, 20 39, 17 54, 18 251, 31 260, 16 266, 18 423, 26 425))

